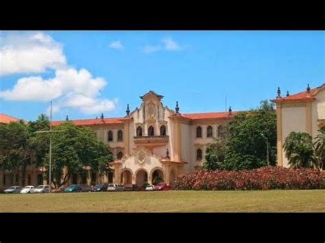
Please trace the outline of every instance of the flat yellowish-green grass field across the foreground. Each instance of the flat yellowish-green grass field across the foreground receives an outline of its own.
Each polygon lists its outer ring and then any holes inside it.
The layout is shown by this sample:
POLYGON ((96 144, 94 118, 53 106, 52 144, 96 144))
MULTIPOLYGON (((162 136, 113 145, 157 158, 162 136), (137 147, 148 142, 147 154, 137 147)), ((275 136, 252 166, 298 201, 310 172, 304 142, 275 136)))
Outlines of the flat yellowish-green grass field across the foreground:
POLYGON ((0 212, 325 212, 325 190, 0 194, 0 212))

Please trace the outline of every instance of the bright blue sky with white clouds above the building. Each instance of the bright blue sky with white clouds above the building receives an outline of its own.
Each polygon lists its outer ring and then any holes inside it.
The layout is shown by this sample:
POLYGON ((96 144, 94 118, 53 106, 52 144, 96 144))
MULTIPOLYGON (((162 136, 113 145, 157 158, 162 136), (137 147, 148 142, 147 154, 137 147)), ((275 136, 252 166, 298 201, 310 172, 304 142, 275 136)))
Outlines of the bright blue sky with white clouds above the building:
POLYGON ((0 112, 25 120, 50 100, 53 120, 124 116, 149 90, 184 113, 248 110, 324 82, 325 31, 0 32, 0 112))

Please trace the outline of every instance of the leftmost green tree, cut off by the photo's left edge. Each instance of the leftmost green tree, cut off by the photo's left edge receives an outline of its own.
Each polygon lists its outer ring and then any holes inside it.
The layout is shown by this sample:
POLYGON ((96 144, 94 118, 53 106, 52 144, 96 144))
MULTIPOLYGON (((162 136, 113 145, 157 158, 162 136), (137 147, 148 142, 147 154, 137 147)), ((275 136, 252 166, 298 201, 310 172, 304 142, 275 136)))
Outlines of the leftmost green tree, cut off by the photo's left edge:
POLYGON ((12 183, 16 175, 25 185, 27 165, 32 155, 29 138, 30 132, 23 120, 0 125, 0 169, 10 175, 12 183))

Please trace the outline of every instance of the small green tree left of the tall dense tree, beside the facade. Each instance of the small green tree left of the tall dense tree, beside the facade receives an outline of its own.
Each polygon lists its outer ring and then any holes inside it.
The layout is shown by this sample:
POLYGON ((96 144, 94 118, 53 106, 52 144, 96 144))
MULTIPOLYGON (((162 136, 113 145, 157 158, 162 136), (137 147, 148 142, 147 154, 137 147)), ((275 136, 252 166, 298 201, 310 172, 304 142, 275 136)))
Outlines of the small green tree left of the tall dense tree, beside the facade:
POLYGON ((206 156, 202 164, 205 170, 217 170, 224 168, 224 160, 226 156, 225 142, 217 142, 206 148, 206 156))

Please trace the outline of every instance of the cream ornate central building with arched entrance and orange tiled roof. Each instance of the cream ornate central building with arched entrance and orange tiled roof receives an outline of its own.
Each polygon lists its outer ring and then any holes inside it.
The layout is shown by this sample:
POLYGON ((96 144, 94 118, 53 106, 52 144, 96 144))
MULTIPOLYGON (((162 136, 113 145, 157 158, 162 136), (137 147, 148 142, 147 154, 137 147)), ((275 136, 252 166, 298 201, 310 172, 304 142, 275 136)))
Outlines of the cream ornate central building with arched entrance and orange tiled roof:
MULTIPOLYGON (((153 91, 140 98, 139 108, 130 111, 128 105, 124 117, 105 118, 102 114, 95 119, 72 120, 77 126, 91 127, 97 138, 110 146, 115 160, 110 163, 110 174, 99 176, 99 172, 85 168, 87 172, 73 175, 69 184, 114 182, 141 186, 145 181, 153 183, 155 177, 171 184, 181 173, 202 164, 206 147, 226 136, 227 123, 237 113, 230 108, 228 112, 182 114, 177 102, 175 110, 171 110, 163 105, 163 96, 153 91)), ((64 120, 53 121, 52 125, 61 123, 64 120)), ((26 182, 47 183, 42 179, 43 171, 30 167, 26 182)), ((3 178, 0 183, 0 187, 8 186, 3 184, 3 178)))

